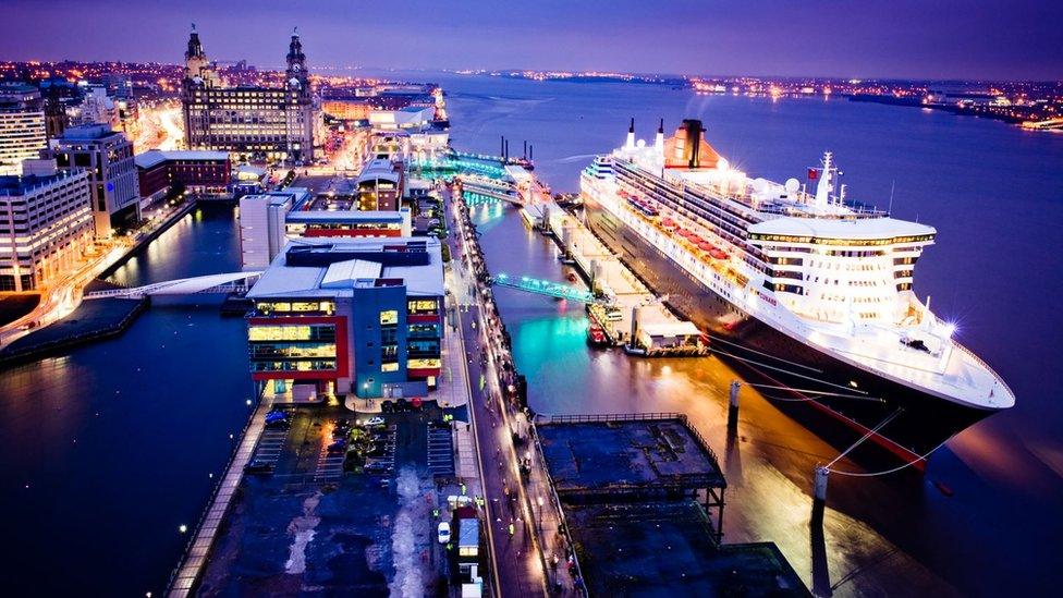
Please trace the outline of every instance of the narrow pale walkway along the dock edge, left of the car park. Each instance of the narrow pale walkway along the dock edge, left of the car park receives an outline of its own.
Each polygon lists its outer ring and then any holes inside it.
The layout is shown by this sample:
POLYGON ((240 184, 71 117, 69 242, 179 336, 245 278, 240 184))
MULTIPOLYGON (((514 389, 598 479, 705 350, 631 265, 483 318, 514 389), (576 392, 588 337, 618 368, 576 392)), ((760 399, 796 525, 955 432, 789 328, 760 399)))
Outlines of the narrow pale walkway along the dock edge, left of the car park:
POLYGON ((252 416, 251 424, 247 425, 247 429, 241 436, 240 447, 236 449, 232 461, 229 462, 229 468, 225 469, 224 477, 222 477, 221 483, 215 489, 215 496, 210 501, 210 507, 207 509, 203 520, 199 521, 195 536, 188 545, 181 565, 178 568, 176 574, 170 583, 168 596, 171 598, 184 598, 188 596, 199 579, 203 568, 207 564, 207 557, 215 544, 215 538, 218 535, 218 529, 221 527, 225 513, 229 511, 233 497, 244 477, 244 466, 247 465, 252 455, 255 454, 255 446, 258 443, 258 438, 261 436, 262 430, 266 429, 266 413, 269 412, 270 406, 269 401, 262 399, 258 403, 255 415, 252 416))

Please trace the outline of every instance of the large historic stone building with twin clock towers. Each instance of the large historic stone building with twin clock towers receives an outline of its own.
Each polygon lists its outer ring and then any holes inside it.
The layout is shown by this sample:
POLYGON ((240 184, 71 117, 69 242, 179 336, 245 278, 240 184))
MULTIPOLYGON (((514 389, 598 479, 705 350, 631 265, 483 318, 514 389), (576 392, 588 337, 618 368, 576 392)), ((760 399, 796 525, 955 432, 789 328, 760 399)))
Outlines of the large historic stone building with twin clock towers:
POLYGON ((193 28, 181 101, 190 149, 230 151, 253 161, 314 160, 314 102, 297 34, 289 45, 282 86, 229 87, 207 61, 193 28))

